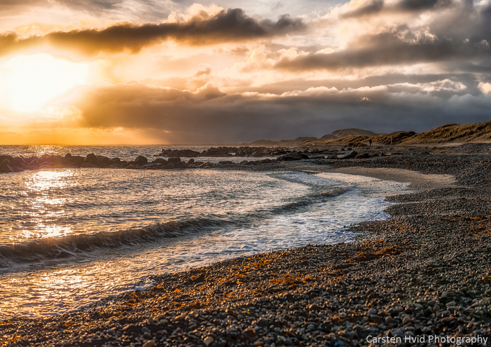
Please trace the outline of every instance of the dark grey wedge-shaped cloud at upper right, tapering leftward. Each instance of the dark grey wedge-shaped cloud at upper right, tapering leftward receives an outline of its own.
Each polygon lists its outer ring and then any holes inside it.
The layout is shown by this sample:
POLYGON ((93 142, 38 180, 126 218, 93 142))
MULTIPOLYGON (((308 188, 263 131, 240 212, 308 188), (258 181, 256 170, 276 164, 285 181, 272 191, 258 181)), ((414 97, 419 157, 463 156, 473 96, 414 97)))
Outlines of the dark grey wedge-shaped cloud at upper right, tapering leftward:
POLYGON ((334 53, 307 53, 282 58, 276 67, 300 71, 349 70, 380 65, 401 65, 478 59, 491 56, 491 14, 464 6, 441 15, 425 27, 400 25, 358 37, 334 53))

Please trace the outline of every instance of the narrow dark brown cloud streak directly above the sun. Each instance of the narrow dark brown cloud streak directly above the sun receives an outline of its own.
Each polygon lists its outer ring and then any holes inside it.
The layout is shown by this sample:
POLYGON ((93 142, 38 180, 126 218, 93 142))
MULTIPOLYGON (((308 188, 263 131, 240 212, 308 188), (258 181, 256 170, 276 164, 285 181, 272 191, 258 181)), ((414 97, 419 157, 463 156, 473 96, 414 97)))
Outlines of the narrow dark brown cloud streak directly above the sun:
POLYGON ((19 38, 16 33, 0 35, 0 55, 26 49, 49 47, 84 56, 98 53, 138 53, 142 48, 173 39, 189 45, 208 45, 284 35, 303 29, 301 19, 288 15, 257 21, 240 8, 222 10, 213 16, 202 13, 187 22, 162 24, 119 24, 105 29, 50 32, 44 36, 19 38))

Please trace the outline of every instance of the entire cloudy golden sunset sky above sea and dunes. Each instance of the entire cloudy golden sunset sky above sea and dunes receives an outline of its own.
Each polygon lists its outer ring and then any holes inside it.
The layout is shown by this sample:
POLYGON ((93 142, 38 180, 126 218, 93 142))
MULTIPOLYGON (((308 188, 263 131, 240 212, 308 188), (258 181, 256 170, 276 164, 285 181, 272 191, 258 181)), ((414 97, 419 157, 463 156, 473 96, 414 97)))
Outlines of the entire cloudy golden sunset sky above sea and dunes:
POLYGON ((491 119, 491 0, 1 0, 0 143, 491 119))

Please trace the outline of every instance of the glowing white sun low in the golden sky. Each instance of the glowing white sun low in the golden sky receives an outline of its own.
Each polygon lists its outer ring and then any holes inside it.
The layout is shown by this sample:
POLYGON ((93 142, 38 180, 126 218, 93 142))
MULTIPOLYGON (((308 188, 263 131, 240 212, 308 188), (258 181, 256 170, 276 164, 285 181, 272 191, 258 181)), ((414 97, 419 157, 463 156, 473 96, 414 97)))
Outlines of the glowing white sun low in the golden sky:
POLYGON ((48 53, 18 55, 0 64, 0 90, 5 108, 35 112, 88 81, 88 64, 48 53))

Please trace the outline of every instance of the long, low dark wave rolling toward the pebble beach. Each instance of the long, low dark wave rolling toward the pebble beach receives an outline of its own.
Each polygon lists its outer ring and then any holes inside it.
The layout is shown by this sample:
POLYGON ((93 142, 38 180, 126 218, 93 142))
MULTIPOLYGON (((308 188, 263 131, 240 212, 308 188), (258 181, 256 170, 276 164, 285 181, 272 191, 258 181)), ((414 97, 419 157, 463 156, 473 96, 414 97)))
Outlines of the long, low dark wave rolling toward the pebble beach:
POLYGON ((189 220, 172 220, 141 228, 105 231, 91 234, 70 234, 61 237, 43 238, 0 245, 0 268, 9 268, 13 263, 31 263, 66 257, 83 256, 102 248, 155 243, 169 238, 198 235, 218 228, 235 228, 252 225, 273 216, 301 212, 324 198, 335 197, 349 188, 334 187, 332 190, 298 197, 294 202, 257 210, 254 213, 232 216, 209 215, 189 220))

